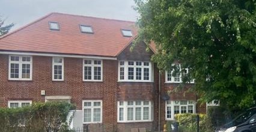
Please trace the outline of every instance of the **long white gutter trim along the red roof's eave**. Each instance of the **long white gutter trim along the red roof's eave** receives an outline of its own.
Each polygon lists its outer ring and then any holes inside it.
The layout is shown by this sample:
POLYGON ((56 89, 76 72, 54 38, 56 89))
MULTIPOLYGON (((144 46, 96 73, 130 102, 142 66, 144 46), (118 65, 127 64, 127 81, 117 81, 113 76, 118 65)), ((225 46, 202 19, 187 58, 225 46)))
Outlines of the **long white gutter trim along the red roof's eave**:
POLYGON ((104 56, 92 56, 92 55, 66 55, 61 53, 32 53, 32 52, 7 52, 0 51, 0 54, 7 55, 29 55, 29 56, 55 56, 55 57, 63 57, 63 58, 87 58, 87 59, 109 59, 109 60, 117 60, 115 57, 104 57, 104 56))

